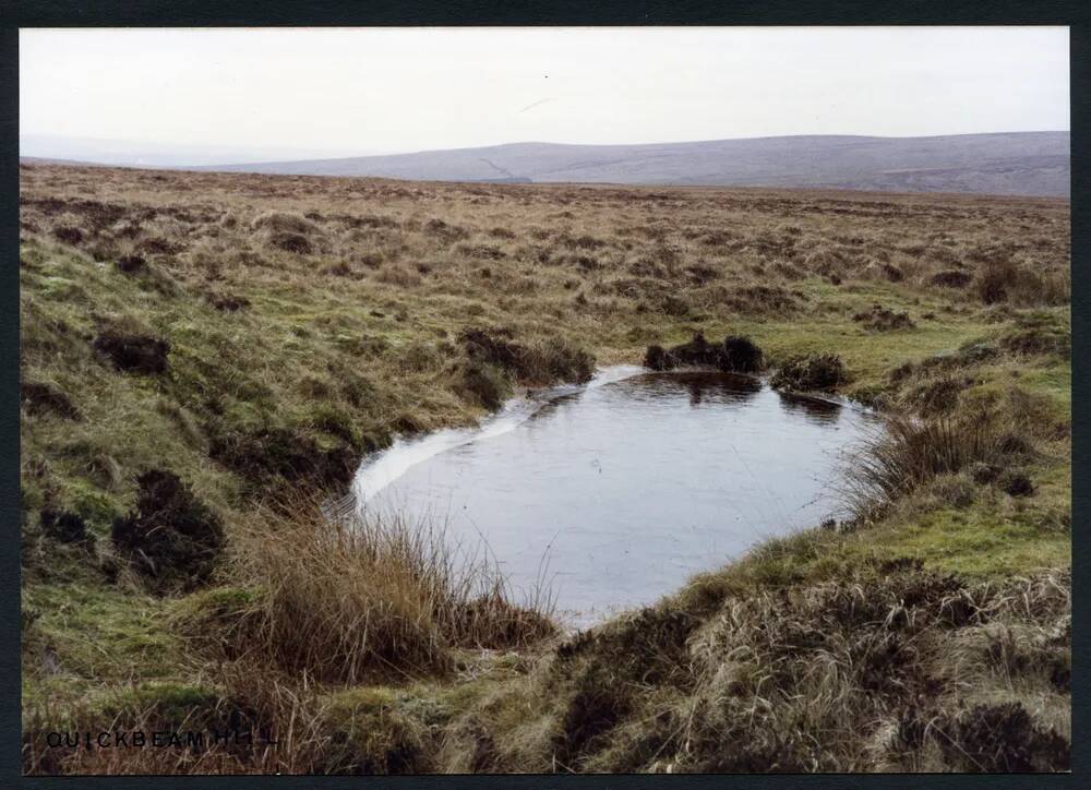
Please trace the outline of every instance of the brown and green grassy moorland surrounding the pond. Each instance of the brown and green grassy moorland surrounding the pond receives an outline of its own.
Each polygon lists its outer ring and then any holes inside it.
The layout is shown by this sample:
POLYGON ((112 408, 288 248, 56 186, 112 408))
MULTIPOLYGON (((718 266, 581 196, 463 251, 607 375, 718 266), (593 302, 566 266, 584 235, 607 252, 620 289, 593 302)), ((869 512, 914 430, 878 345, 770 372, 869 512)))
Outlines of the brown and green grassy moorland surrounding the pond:
POLYGON ((43 165, 21 190, 26 770, 1067 768, 1066 201, 43 165), (314 515, 395 433, 698 332, 890 412, 853 519, 567 634, 427 530, 314 515), (277 746, 46 737, 252 726, 277 746))

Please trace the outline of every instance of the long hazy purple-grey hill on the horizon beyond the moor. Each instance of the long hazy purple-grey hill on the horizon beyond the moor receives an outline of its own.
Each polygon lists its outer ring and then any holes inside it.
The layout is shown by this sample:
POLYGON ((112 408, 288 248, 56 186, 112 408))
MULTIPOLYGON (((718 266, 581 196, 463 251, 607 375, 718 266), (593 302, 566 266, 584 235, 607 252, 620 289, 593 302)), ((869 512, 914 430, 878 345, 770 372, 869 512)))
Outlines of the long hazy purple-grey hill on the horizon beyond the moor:
POLYGON ((811 135, 648 145, 482 148, 199 169, 428 181, 811 187, 1068 196, 1068 132, 811 135))

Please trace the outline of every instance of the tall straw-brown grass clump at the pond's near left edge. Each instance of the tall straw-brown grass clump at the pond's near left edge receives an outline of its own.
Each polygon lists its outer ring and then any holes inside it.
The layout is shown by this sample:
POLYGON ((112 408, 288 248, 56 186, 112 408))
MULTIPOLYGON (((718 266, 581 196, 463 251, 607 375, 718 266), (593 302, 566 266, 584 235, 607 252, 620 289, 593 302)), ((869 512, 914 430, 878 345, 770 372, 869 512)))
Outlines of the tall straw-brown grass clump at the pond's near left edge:
POLYGON ((401 518, 266 507, 232 535, 238 591, 183 607, 181 632, 226 658, 341 683, 448 673, 453 648, 552 635, 548 595, 521 606, 477 553, 401 518))

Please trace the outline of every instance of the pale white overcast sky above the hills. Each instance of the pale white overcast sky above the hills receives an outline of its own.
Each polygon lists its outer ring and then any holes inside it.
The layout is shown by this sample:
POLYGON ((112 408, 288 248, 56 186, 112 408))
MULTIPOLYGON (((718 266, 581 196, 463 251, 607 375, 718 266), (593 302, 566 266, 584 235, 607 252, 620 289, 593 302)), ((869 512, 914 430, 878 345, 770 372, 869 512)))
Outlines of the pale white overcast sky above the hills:
POLYGON ((203 164, 1068 129, 1066 27, 20 33, 24 155, 203 164))

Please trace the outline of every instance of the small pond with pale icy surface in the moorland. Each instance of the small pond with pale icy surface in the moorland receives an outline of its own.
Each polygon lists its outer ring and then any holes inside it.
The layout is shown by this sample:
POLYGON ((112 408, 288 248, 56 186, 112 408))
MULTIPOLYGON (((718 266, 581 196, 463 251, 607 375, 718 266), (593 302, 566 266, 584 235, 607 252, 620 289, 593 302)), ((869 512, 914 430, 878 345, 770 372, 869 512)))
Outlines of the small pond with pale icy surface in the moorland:
POLYGON ((839 462, 875 429, 862 408, 748 376, 608 368, 479 428, 395 442, 360 467, 355 505, 483 539, 517 599, 544 582, 584 625, 843 516, 839 462))

